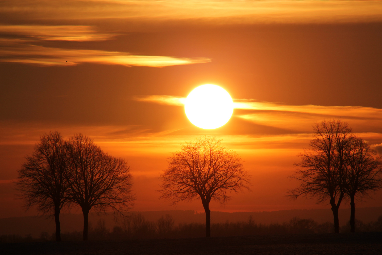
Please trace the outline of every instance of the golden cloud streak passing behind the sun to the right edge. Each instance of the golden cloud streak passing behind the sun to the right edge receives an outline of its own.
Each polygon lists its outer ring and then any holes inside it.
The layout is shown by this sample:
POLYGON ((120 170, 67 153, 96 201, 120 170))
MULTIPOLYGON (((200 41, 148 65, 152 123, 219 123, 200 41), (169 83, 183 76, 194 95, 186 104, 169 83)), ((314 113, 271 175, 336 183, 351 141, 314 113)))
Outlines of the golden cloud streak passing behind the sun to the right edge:
MULTIPOLYGON (((176 96, 135 97, 136 101, 184 106, 185 98, 176 96)), ((259 125, 296 132, 311 132, 314 122, 341 118, 358 132, 382 131, 382 109, 362 106, 293 106, 254 99, 233 99, 234 116, 259 125), (244 110, 244 111, 243 111, 244 110), (371 122, 372 120, 372 122, 371 122)))

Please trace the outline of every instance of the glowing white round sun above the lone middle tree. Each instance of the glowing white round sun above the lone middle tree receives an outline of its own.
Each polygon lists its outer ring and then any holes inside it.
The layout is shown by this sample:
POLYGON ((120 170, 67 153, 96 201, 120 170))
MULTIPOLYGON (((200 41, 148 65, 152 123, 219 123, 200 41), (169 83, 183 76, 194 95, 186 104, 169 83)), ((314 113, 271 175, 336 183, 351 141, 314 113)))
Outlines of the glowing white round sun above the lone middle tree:
POLYGON ((201 85, 187 96, 185 112, 189 121, 197 127, 218 128, 232 116, 232 98, 225 89, 217 85, 201 85))

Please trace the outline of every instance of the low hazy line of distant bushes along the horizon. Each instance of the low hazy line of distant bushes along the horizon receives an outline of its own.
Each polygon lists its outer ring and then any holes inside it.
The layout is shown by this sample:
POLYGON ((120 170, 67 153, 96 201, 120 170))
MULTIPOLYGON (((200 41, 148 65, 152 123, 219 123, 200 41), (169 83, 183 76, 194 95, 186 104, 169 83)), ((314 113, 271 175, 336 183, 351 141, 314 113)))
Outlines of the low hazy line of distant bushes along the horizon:
MULTIPOLYGON (((131 213, 124 221, 113 229, 105 226, 105 220, 100 219, 93 227, 89 224, 90 240, 127 240, 127 239, 157 239, 157 238, 192 238, 205 236, 206 225, 203 223, 174 224, 171 215, 165 215, 157 221, 147 221, 142 214, 131 213)), ((356 219, 357 232, 381 232, 382 215, 370 223, 363 223, 356 219)), ((249 217, 248 221, 212 223, 213 236, 249 236, 249 235, 277 235, 277 234, 314 234, 333 233, 334 224, 330 222, 317 223, 312 219, 292 218, 289 222, 257 224, 249 217)), ((350 232, 350 224, 341 227, 340 232, 350 232)), ((65 241, 82 239, 82 232, 73 231, 62 234, 65 241)), ((11 242, 45 242, 55 240, 55 234, 42 232, 39 238, 19 235, 0 236, 0 243, 11 242)))

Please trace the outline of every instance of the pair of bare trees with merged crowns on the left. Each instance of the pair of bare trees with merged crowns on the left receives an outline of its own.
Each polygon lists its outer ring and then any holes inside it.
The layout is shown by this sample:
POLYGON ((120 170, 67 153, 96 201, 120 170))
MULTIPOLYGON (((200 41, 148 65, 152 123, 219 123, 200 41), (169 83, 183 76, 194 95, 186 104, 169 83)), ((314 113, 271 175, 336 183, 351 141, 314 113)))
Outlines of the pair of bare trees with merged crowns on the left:
POLYGON ((58 132, 41 136, 18 173, 17 189, 27 208, 37 206, 42 214, 54 215, 57 241, 61 240, 64 207, 82 209, 83 240, 87 240, 91 209, 123 213, 134 200, 126 161, 110 156, 81 134, 68 140, 58 132))

